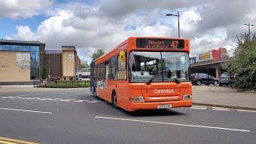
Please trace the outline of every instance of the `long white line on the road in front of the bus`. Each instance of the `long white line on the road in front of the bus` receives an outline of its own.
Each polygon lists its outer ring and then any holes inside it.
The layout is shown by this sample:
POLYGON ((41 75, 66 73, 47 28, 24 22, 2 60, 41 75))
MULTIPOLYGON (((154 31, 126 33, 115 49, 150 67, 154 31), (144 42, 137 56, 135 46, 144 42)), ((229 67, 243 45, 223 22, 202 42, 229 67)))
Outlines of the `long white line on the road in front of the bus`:
POLYGON ((208 129, 217 129, 217 130, 233 130, 233 131, 250 132, 250 130, 231 129, 231 128, 225 128, 225 127, 216 127, 216 126, 199 126, 199 125, 188 125, 188 124, 182 124, 182 123, 154 122, 154 121, 144 121, 144 120, 138 120, 138 119, 110 118, 110 117, 100 117, 100 116, 95 116, 95 118, 114 119, 114 120, 121 120, 121 121, 130 121, 130 122, 157 123, 157 124, 174 125, 174 126, 190 126, 190 127, 200 127, 200 128, 208 128, 208 129))

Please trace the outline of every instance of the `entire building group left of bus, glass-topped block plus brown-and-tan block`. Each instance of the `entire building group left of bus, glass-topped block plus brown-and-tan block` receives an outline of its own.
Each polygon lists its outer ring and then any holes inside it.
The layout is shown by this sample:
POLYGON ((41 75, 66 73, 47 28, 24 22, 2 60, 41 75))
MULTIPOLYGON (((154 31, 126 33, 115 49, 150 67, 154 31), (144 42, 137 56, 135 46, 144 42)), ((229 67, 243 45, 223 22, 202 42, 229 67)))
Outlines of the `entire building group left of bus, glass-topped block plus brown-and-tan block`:
POLYGON ((45 50, 38 41, 0 39, 0 84, 43 78, 74 79, 81 61, 74 46, 45 50))

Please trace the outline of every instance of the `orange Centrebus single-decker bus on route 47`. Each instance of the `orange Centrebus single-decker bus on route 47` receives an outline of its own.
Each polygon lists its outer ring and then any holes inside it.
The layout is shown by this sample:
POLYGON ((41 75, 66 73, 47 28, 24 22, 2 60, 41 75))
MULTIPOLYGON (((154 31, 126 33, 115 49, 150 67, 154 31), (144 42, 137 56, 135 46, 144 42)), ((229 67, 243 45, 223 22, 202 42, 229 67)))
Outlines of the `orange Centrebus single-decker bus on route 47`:
POLYGON ((190 42, 130 37, 91 66, 91 93, 128 111, 192 106, 190 42))

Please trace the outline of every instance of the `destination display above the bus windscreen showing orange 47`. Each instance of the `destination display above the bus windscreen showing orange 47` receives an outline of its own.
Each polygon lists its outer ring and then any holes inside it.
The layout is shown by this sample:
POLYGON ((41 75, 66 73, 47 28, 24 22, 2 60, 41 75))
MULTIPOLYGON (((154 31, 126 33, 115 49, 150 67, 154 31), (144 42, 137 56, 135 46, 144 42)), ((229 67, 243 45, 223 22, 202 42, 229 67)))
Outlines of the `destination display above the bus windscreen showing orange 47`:
POLYGON ((153 38, 137 38, 136 46, 138 48, 150 49, 184 49, 185 42, 180 39, 153 39, 153 38))

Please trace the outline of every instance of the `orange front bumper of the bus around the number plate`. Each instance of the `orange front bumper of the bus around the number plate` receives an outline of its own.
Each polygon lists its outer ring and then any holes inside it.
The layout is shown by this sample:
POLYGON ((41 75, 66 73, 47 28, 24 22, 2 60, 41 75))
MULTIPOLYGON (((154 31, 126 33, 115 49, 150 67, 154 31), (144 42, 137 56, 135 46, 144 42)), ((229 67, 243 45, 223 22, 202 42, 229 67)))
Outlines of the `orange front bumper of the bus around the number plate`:
POLYGON ((170 102, 138 102, 138 103, 130 103, 126 106, 126 110, 134 111, 134 110, 157 110, 158 106, 169 105, 171 108, 177 107, 191 107, 192 100, 182 100, 182 101, 170 101, 170 102))

